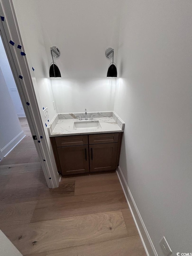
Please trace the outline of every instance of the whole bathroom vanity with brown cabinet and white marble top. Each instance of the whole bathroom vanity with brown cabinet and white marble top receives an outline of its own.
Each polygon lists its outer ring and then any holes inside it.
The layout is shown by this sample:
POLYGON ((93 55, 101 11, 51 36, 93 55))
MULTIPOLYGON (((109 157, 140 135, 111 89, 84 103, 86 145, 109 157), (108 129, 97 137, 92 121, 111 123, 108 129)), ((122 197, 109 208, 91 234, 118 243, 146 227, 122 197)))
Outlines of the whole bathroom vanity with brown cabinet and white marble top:
POLYGON ((57 114, 47 127, 58 172, 116 170, 125 123, 114 112, 87 113, 88 120, 79 116, 84 117, 82 113, 57 114))

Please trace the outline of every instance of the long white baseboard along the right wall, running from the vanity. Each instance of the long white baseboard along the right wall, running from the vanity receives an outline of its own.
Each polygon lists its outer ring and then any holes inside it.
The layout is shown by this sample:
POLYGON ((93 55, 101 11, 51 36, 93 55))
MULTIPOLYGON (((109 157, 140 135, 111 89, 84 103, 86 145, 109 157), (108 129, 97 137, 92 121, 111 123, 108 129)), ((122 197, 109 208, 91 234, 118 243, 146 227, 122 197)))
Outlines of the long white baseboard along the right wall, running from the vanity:
POLYGON ((131 191, 128 187, 128 184, 125 180, 125 177, 122 173, 122 170, 121 168, 118 166, 117 168, 117 175, 118 175, 118 178, 119 178, 119 181, 121 183, 121 186, 122 186, 122 189, 123 189, 123 192, 125 194, 125 198, 127 200, 127 203, 129 205, 129 208, 131 210, 131 214, 134 218, 134 221, 135 221, 135 224, 136 224, 136 227, 137 227, 137 230, 139 232, 139 235, 141 237, 141 241, 143 243, 143 246, 144 246, 144 249, 146 251, 146 254, 147 256, 158 256, 156 250, 155 250, 155 247, 152 243, 152 240, 149 236, 149 233, 146 229, 146 226, 143 222, 143 219, 141 218, 141 215, 140 215, 140 212, 137 208, 137 205, 134 201, 134 198, 131 194, 131 191))

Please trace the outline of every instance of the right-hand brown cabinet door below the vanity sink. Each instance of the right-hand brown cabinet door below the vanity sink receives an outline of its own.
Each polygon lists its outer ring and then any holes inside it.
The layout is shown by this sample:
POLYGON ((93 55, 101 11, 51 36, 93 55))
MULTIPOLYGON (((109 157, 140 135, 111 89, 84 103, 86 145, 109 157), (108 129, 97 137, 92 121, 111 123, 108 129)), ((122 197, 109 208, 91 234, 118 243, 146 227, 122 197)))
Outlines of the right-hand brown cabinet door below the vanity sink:
POLYGON ((117 143, 89 145, 90 171, 115 170, 117 143))

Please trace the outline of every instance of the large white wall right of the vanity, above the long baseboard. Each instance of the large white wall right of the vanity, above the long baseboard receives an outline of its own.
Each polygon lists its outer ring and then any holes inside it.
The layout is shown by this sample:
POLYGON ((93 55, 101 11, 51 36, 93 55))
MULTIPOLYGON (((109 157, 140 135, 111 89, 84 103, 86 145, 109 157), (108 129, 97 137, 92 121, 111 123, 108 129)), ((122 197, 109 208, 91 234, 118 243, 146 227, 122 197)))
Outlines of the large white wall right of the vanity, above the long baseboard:
POLYGON ((130 0, 122 9, 114 111, 120 167, 159 256, 163 236, 192 252, 191 1, 130 0))

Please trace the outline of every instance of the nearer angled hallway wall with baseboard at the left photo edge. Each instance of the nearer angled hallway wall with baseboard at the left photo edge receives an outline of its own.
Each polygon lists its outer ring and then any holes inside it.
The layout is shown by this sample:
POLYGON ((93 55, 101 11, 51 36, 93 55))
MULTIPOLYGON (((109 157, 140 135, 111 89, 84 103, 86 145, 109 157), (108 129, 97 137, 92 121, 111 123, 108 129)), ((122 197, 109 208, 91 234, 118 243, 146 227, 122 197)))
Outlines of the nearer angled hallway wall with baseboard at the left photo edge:
POLYGON ((25 135, 22 131, 1 68, 0 91, 0 151, 5 156, 25 135))

